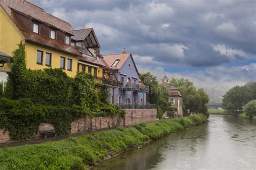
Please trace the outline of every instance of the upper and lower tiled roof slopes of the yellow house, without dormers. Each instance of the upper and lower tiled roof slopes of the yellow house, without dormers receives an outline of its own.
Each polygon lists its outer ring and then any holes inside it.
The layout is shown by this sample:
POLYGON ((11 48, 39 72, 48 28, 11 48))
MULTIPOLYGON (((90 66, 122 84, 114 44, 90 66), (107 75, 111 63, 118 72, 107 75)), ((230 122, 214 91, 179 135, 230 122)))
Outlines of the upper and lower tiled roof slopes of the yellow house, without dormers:
POLYGON ((38 34, 31 33, 29 26, 25 25, 24 20, 18 16, 22 15, 26 18, 42 22, 45 25, 51 26, 55 29, 59 29, 62 32, 66 32, 67 30, 73 30, 73 27, 69 23, 50 15, 42 8, 39 8, 38 6, 33 5, 32 3, 25 0, 0 0, 0 5, 4 8, 8 16, 18 27, 25 40, 28 40, 35 44, 55 48, 59 51, 63 51, 73 55, 81 55, 75 47, 67 45, 59 39, 52 40, 43 33, 40 36, 38 34))

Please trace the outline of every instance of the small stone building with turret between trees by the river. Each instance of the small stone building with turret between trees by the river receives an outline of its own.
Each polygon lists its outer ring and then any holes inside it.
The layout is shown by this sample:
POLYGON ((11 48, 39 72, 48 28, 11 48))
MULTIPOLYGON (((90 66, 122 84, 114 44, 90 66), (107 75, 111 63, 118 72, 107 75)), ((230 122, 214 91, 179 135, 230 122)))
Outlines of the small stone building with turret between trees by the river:
POLYGON ((182 110, 182 96, 178 88, 170 85, 170 79, 165 75, 163 79, 161 79, 162 86, 168 90, 169 93, 169 103, 172 105, 176 105, 178 107, 177 112, 174 113, 174 116, 183 116, 182 110))

